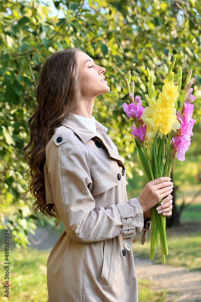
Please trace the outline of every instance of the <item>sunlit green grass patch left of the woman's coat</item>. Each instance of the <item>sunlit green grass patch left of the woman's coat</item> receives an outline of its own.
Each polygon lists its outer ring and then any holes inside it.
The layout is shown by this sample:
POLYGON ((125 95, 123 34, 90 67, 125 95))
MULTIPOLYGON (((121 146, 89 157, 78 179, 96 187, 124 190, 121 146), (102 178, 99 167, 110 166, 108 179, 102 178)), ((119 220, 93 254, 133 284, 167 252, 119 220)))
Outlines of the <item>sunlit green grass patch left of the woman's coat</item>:
MULTIPOLYGON (((1 290, 1 301, 10 302, 47 302, 47 284, 46 284, 46 263, 48 251, 31 250, 22 252, 19 249, 12 249, 9 262, 9 298, 4 297, 1 290)), ((5 285, 4 259, 1 250, 0 287, 5 285)))

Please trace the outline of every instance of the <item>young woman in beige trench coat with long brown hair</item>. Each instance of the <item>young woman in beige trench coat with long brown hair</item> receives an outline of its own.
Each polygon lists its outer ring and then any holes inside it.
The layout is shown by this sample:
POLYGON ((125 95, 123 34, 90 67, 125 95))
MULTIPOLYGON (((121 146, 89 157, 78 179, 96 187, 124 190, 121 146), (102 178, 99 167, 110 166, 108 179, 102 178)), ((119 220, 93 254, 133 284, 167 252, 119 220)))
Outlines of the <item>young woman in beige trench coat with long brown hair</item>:
POLYGON ((159 215, 171 215, 168 177, 127 200, 124 163, 92 116, 96 96, 110 90, 104 73, 80 48, 53 54, 28 118, 33 210, 65 226, 47 260, 48 302, 137 302, 132 237, 161 198, 159 215))

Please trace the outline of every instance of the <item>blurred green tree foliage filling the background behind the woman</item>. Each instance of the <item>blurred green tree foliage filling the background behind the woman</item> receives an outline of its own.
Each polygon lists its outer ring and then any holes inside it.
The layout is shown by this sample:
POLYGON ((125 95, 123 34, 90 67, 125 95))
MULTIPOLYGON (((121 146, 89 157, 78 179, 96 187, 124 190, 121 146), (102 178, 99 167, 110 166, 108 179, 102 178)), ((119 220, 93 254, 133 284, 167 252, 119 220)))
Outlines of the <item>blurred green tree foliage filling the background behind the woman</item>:
MULTIPOLYGON (((56 15, 42 1, 0 2, 0 218, 1 228, 10 228, 18 247, 28 243, 28 231, 34 234, 36 219, 46 220, 33 214, 33 199, 24 193, 29 172, 24 173, 28 166, 21 148, 29 141, 26 120, 34 108, 39 68, 55 51, 79 46, 96 64, 106 68, 105 77, 111 90, 95 99, 93 115, 108 127, 108 134, 125 160, 127 177, 133 178, 130 182, 133 186, 142 185, 143 178, 140 183, 142 171, 130 134, 131 120, 123 111, 123 103, 128 102, 125 76, 130 69, 135 94, 141 96, 146 106, 147 66, 153 72, 159 94, 168 62, 177 53, 174 72, 182 66, 181 91, 190 69, 196 79, 193 118, 197 122, 189 155, 194 162, 199 160, 200 2, 58 0, 54 1, 54 11, 56 15)), ((190 181, 195 181, 194 176, 190 181)))

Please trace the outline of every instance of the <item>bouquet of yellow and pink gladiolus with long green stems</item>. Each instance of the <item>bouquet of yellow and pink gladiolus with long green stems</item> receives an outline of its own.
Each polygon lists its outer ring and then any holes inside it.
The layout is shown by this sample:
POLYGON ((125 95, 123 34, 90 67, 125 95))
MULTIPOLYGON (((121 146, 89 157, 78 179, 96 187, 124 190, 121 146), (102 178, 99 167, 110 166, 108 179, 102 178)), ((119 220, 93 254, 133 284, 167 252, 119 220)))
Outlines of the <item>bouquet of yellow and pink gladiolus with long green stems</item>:
MULTIPOLYGON (((143 107, 139 96, 134 98, 134 82, 130 85, 130 70, 126 78, 126 88, 129 93, 129 103, 123 104, 127 116, 133 119, 130 133, 134 136, 140 161, 143 165, 148 182, 153 179, 170 177, 172 161, 177 153, 178 160, 185 160, 185 152, 190 146, 190 136, 195 120, 192 119, 194 100, 192 95, 192 69, 189 71, 181 98, 181 108, 177 111, 177 101, 181 90, 182 68, 177 73, 177 85, 174 84, 172 69, 177 55, 169 62, 168 78, 164 79, 162 92, 155 99, 153 74, 147 68, 148 95, 145 95, 148 106, 143 107), (176 112, 177 111, 177 112, 176 112)), ((153 259, 155 244, 161 245, 162 262, 168 255, 165 234, 165 216, 159 215, 156 208, 162 199, 151 209, 151 247, 150 259, 153 259)))

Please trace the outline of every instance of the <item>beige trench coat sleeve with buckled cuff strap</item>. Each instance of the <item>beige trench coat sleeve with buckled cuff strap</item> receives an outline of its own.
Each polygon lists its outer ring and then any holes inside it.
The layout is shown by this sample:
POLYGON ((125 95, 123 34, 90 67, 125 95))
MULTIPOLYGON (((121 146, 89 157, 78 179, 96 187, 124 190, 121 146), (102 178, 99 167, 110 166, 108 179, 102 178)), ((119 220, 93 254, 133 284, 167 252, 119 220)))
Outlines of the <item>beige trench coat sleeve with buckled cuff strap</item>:
POLYGON ((89 190, 92 185, 89 152, 81 141, 75 147, 72 136, 75 136, 73 131, 62 144, 50 141, 46 147, 44 168, 51 184, 55 210, 68 236, 78 242, 95 242, 120 234, 125 237, 124 229, 126 235, 133 234, 133 230, 129 233, 129 228, 141 232, 143 210, 137 198, 112 204, 106 209, 95 209, 95 200, 89 190))

